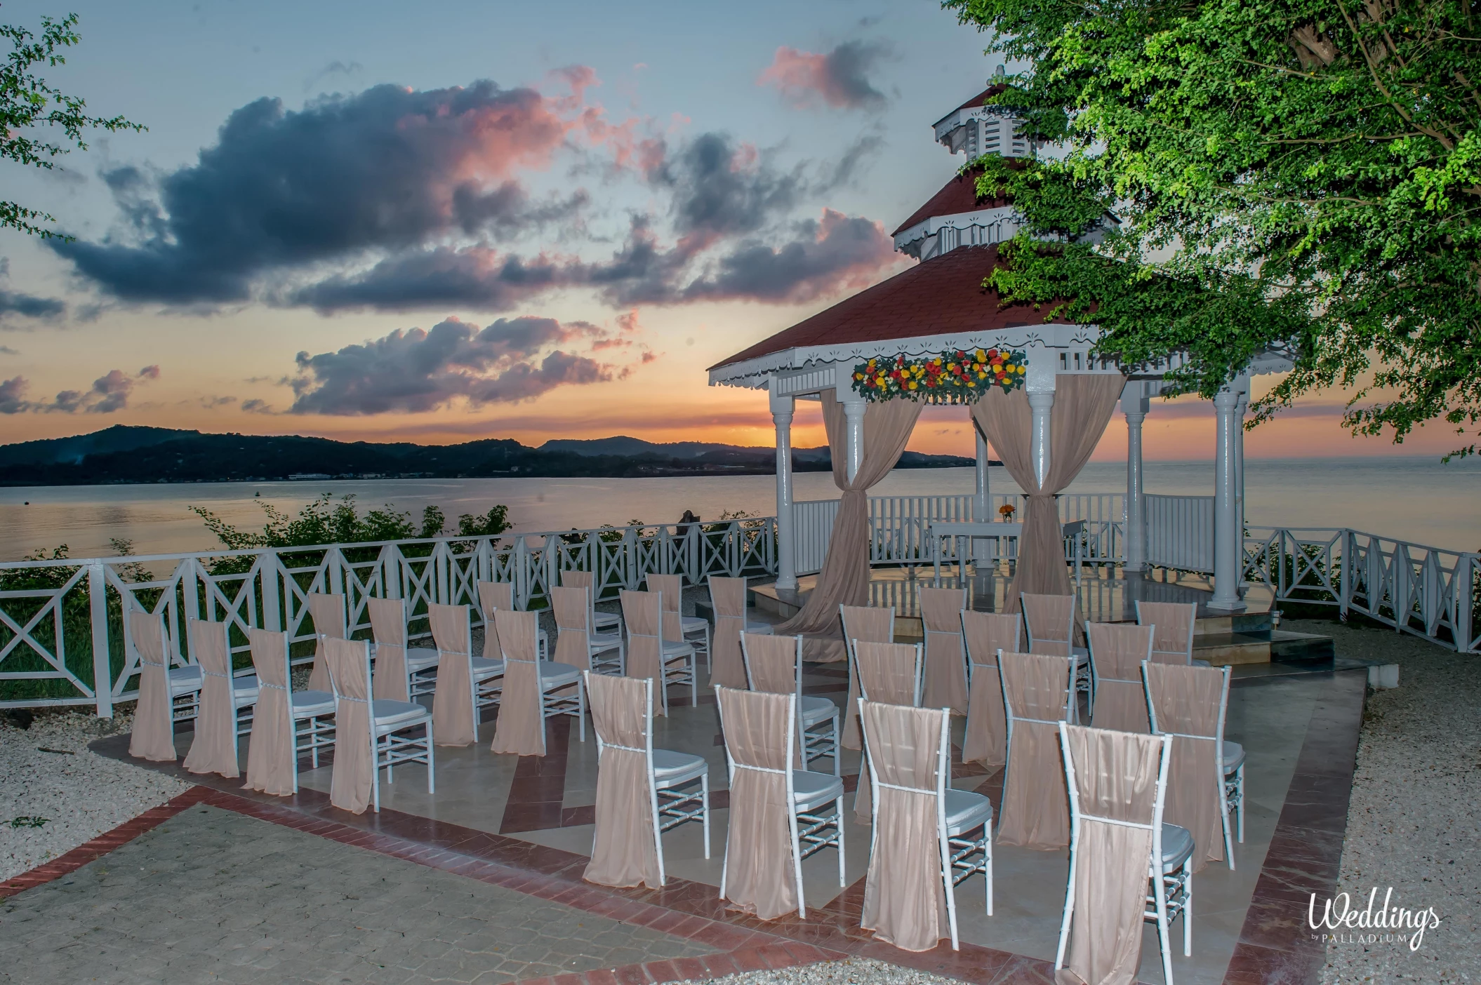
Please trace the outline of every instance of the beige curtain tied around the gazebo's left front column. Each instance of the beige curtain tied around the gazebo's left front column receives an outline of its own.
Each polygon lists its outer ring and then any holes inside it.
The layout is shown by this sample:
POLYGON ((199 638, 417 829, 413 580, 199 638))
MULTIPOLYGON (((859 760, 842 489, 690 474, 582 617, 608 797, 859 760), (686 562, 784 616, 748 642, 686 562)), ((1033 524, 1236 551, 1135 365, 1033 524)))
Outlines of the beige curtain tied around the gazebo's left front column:
MULTIPOLYGON (((818 584, 803 610, 776 627, 778 635, 803 634, 803 652, 810 661, 841 661, 847 650, 838 635, 838 606, 863 606, 869 600, 869 504, 868 492, 890 474, 911 440, 921 404, 914 400, 883 400, 863 412, 863 455, 859 473, 847 481, 847 424, 843 404, 832 390, 822 393, 823 427, 832 453, 834 483, 843 490, 834 515, 828 554, 818 584)), ((853 718, 850 717, 850 723, 853 718)), ((857 748, 857 747, 852 747, 857 748)))

